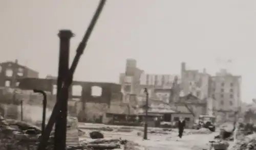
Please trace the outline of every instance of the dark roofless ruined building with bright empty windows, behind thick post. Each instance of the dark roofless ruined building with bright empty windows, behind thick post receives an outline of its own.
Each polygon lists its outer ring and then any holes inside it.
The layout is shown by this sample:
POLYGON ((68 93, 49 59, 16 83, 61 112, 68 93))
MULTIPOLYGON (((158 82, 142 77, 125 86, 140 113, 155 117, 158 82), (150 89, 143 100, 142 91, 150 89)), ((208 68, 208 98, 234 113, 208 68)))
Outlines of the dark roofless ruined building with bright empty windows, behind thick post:
MULTIPOLYGON (((55 79, 24 78, 19 82, 21 89, 40 89, 56 95, 55 79)), ((78 109, 79 120, 86 121, 104 115, 111 109, 111 103, 120 101, 121 97, 119 84, 74 81, 70 88, 69 103, 78 109)))

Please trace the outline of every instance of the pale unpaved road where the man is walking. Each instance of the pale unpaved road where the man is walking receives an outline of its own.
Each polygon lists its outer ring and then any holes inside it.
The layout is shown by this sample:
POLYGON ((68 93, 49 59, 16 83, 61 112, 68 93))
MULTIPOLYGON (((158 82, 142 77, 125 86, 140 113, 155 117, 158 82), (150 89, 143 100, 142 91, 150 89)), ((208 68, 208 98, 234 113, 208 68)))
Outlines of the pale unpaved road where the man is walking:
MULTIPOLYGON (((90 123, 80 123, 80 127, 107 127, 104 124, 90 124, 90 123)), ((185 135, 180 139, 178 138, 177 130, 173 130, 171 132, 166 132, 165 134, 157 134, 157 133, 148 133, 148 140, 143 140, 142 134, 137 135, 138 132, 141 133, 141 127, 129 127, 129 130, 126 132, 117 132, 117 129, 123 128, 121 126, 108 126, 115 128, 114 131, 102 131, 105 138, 122 138, 138 143, 143 147, 142 149, 148 150, 202 150, 209 148, 208 141, 212 140, 215 135, 218 133, 210 133, 210 134, 189 134, 191 130, 185 130, 185 135)), ((125 128, 125 127, 124 127, 125 128)), ((154 130, 151 128, 150 130, 154 130)), ((160 131, 162 129, 155 128, 155 130, 160 131)), ((86 133, 91 132, 91 130, 83 129, 86 133)), ((88 136, 88 134, 87 134, 88 136)), ((83 137, 87 138, 87 137, 83 137)))

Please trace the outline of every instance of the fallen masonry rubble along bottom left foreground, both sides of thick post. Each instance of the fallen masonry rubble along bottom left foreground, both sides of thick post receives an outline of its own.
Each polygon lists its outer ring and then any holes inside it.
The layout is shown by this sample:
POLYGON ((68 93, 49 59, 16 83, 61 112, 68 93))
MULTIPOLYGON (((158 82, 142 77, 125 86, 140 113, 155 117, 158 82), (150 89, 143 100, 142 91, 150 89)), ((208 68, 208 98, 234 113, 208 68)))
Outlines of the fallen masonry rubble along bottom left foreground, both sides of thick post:
MULTIPOLYGON (((71 129, 73 129, 72 126, 68 128, 68 130, 71 129)), ((81 130, 78 130, 77 133, 80 135, 85 134, 81 130)), ((53 149, 53 135, 54 134, 52 133, 48 141, 47 149, 53 149)), ((40 136, 41 129, 33 124, 5 118, 1 118, 0 120, 0 149, 36 149, 40 136)), ((67 146, 67 149, 116 149, 129 147, 126 146, 126 143, 127 141, 122 139, 102 138, 92 141, 80 141, 79 145, 69 145, 67 146)))

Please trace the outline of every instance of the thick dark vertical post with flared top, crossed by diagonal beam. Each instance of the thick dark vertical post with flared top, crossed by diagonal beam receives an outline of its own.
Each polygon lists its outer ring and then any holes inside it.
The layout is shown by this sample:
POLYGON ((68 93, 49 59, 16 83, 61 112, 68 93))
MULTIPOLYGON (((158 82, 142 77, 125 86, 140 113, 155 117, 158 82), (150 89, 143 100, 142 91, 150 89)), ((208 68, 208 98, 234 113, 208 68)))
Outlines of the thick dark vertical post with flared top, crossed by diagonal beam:
POLYGON ((61 101, 60 115, 55 123, 54 134, 54 149, 64 150, 66 149, 66 133, 67 133, 67 111, 68 111, 68 96, 69 93, 62 93, 62 99, 60 97, 60 91, 62 88, 63 80, 65 80, 69 70, 69 47, 70 39, 73 33, 70 30, 59 31, 60 48, 59 48, 59 68, 57 79, 57 101, 61 101))

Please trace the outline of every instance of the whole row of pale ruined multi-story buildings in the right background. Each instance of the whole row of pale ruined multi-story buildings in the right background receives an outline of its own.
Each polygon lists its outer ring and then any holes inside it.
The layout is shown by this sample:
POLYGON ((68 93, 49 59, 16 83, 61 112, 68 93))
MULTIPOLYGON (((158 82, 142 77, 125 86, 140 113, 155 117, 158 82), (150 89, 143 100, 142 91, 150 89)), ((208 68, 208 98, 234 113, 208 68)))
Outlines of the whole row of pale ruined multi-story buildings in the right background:
MULTIPOLYGON (((179 103, 181 97, 192 94, 198 101, 205 101, 206 112, 210 115, 233 113, 241 104, 241 76, 232 76, 225 70, 211 76, 203 69, 191 70, 181 64, 181 76, 170 74, 147 74, 136 66, 136 60, 127 60, 125 73, 120 74, 123 89, 123 101, 129 103, 131 94, 138 101, 145 101, 144 88, 148 89, 150 99, 166 104, 179 103), (143 100, 142 100, 143 99, 143 100)), ((229 117, 225 114, 225 117, 229 117)))

